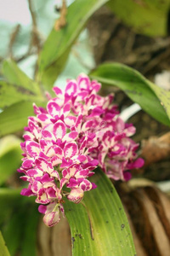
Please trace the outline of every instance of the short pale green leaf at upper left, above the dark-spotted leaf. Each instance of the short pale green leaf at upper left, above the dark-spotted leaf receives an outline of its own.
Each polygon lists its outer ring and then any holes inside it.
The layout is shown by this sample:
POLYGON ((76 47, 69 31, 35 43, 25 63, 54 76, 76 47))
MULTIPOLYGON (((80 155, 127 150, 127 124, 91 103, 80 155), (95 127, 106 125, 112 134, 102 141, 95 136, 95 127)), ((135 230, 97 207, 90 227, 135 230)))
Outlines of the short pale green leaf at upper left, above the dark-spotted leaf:
POLYGON ((24 92, 24 89, 26 89, 26 91, 30 91, 30 94, 41 96, 39 85, 28 78, 26 73, 23 73, 14 61, 3 61, 3 75, 10 84, 20 85, 18 89, 20 92, 22 90, 24 92))

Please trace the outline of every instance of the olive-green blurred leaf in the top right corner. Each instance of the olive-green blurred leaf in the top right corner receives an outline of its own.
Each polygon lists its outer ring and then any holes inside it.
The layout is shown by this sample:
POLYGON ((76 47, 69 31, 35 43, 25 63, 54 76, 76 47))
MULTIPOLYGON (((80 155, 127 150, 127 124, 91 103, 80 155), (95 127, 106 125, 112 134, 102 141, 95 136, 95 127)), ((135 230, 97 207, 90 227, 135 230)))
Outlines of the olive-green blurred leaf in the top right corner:
POLYGON ((170 0, 111 0, 108 5, 136 32, 154 37, 167 35, 170 0))

